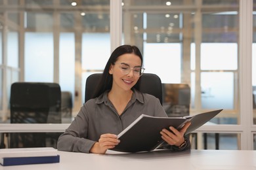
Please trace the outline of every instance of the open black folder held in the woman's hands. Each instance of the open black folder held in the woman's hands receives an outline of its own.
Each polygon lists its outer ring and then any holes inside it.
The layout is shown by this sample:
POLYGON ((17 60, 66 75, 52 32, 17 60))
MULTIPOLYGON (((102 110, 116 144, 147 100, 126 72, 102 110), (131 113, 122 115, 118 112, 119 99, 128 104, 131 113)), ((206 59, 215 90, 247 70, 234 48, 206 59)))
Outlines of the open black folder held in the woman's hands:
POLYGON ((186 122, 191 122, 186 131, 186 134, 188 134, 211 120, 211 118, 219 114, 222 110, 213 110, 211 112, 203 112, 194 116, 184 116, 181 118, 154 117, 142 114, 117 135, 120 143, 115 148, 112 148, 112 150, 119 152, 154 150, 163 143, 160 134, 161 129, 169 129, 170 126, 173 126, 179 130, 186 122))

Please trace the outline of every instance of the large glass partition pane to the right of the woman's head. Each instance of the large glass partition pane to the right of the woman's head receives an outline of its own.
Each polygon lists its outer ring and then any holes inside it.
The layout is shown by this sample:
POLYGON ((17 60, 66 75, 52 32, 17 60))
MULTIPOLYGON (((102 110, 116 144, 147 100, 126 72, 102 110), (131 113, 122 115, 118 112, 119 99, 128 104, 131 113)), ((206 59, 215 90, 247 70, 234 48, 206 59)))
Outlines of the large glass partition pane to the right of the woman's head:
POLYGON ((224 109, 215 123, 238 124, 238 7, 123 0, 123 44, 139 46, 145 73, 190 86, 190 114, 224 109))

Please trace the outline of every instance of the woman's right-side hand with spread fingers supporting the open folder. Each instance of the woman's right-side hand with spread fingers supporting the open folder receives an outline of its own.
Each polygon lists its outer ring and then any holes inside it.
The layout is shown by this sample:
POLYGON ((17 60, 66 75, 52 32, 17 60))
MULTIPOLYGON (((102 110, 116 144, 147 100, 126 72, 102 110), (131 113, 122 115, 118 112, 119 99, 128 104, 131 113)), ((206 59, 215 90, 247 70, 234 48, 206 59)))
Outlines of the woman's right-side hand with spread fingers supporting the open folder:
POLYGON ((172 126, 169 127, 172 132, 167 129, 162 129, 162 131, 160 131, 161 138, 170 145, 181 146, 181 144, 184 143, 185 140, 184 133, 186 132, 186 129, 188 129, 190 124, 190 122, 187 122, 180 131, 172 126))

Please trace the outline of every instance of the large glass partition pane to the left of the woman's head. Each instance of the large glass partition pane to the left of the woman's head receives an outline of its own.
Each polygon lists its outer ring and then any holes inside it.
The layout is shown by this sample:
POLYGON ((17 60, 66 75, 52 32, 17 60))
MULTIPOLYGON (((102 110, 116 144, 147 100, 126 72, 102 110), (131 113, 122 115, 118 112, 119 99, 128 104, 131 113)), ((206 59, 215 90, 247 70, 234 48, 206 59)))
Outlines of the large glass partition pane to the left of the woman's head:
POLYGON ((84 102, 83 75, 102 72, 110 56, 110 1, 15 0, 0 4, 0 15, 5 18, 0 18, 0 63, 6 54, 10 67, 5 72, 1 67, 8 82, 1 85, 6 89, 1 88, 0 95, 7 97, 7 102, 1 100, 1 114, 7 119, 10 116, 11 84, 24 81, 60 84, 62 92, 72 94, 75 116, 84 102), (3 39, 7 41, 2 44, 3 39))

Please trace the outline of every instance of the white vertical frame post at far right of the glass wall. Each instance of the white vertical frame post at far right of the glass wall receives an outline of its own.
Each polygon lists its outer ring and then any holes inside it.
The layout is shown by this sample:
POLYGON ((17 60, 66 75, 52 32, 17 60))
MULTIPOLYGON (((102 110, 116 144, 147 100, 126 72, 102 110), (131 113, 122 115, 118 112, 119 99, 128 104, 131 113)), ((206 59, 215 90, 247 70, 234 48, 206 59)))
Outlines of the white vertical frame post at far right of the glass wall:
POLYGON ((239 9, 239 84, 240 120, 242 126, 241 149, 253 149, 251 127, 253 124, 252 97, 252 27, 253 1, 240 0, 239 9))

